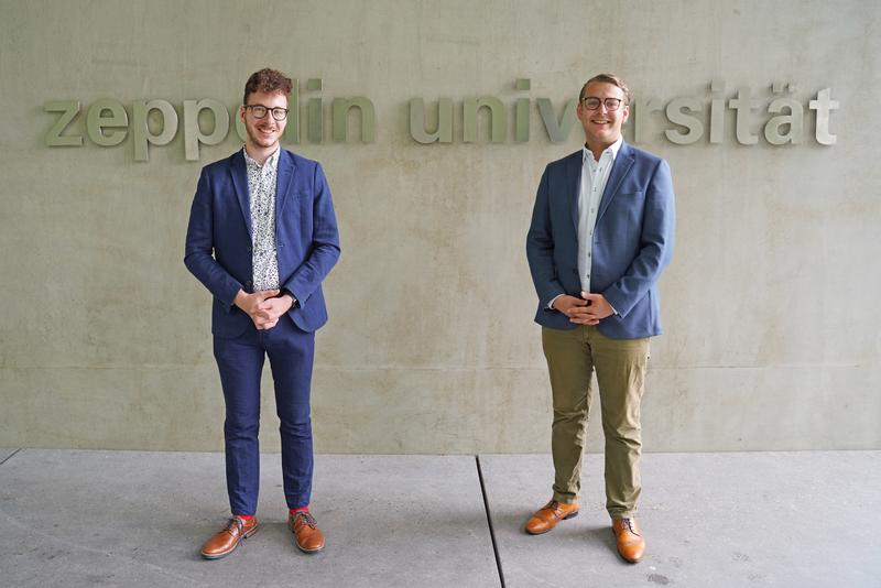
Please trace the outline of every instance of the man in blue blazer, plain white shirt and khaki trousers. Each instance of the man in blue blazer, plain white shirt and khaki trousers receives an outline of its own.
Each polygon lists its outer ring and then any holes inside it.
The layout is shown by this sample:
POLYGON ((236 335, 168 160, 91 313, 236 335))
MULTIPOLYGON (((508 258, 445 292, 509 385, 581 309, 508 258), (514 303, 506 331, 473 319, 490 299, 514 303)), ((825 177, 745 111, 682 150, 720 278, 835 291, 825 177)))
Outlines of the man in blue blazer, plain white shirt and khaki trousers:
POLYGON ((606 510, 618 553, 639 562, 640 403, 650 337, 661 334, 656 283, 673 251, 674 195, 667 163, 623 141, 630 90, 612 74, 591 77, 577 108, 585 145, 547 165, 526 238, 539 295, 554 421, 553 496, 526 522, 533 535, 578 514, 591 378, 606 437, 606 510))

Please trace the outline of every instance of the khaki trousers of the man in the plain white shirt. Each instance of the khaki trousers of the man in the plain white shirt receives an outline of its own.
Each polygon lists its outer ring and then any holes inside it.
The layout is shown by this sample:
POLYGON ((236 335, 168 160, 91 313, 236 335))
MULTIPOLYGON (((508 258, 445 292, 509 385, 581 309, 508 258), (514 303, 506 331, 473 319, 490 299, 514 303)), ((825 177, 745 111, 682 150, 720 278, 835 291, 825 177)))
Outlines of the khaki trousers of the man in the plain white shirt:
POLYGON ((581 489, 581 454, 597 372, 606 437, 606 510, 632 518, 640 496, 640 403, 649 361, 649 338, 610 339, 596 326, 542 328, 553 392, 554 500, 573 503, 581 489))

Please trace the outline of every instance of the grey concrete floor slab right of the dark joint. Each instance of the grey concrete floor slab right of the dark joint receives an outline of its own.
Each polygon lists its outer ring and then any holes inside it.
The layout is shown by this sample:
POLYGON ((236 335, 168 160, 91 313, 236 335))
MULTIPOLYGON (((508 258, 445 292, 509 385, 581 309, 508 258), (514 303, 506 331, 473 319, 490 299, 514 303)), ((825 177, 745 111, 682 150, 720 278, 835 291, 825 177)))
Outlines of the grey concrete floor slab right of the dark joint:
POLYGON ((878 586, 881 453, 650 454, 639 565, 618 558, 602 457, 586 457, 580 512, 523 532, 551 497, 550 456, 480 456, 505 586, 878 586))

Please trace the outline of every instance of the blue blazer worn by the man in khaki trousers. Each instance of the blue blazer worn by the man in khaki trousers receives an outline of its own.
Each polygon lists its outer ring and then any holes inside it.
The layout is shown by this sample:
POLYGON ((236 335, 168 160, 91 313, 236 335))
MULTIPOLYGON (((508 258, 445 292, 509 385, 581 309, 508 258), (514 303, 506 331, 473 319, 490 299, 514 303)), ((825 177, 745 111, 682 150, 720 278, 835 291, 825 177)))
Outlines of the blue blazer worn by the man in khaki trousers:
MULTIPOLYGON (((539 184, 526 258, 539 309, 535 322, 576 327, 547 304, 559 294, 580 297, 578 193, 583 152, 547 165, 539 184)), ((661 157, 622 143, 600 199, 594 229, 590 290, 618 312, 599 322, 614 339, 661 334, 656 283, 673 253, 675 206, 670 166, 661 157)))

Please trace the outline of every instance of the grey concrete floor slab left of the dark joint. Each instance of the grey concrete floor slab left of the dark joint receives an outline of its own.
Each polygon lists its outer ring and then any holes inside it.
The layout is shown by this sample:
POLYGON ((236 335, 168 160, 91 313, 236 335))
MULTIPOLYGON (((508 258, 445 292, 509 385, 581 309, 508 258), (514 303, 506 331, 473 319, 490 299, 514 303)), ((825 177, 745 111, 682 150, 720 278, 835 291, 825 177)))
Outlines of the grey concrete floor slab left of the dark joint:
POLYGON ((312 510, 325 551, 286 527, 264 455, 263 529, 224 559, 202 543, 228 518, 224 456, 25 449, 0 466, 4 586, 498 585, 475 458, 323 456, 312 510))

